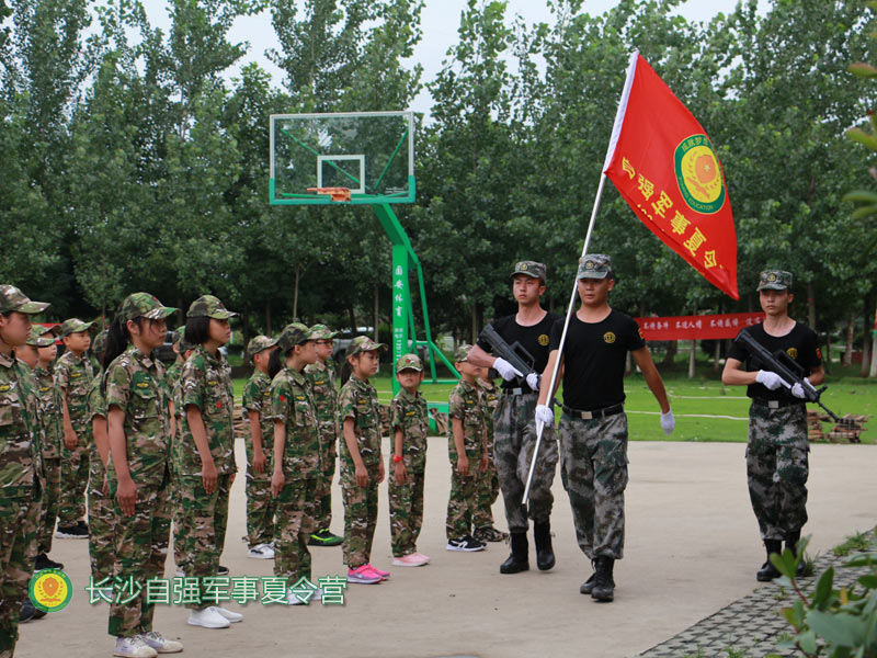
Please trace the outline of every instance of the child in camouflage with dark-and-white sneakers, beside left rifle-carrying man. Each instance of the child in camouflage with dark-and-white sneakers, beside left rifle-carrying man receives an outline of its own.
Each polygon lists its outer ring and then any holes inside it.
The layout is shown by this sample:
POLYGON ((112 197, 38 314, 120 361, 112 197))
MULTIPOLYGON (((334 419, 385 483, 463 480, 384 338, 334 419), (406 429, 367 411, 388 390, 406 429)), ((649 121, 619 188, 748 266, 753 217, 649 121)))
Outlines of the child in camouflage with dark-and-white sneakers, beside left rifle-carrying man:
POLYGON ((471 345, 460 345, 454 353, 459 383, 451 392, 447 416, 447 456, 451 460, 451 496, 447 501, 448 551, 483 551, 487 547, 471 536, 478 479, 487 472, 487 408, 481 401, 476 378, 478 366, 469 363, 471 345))

